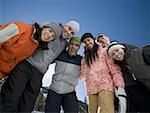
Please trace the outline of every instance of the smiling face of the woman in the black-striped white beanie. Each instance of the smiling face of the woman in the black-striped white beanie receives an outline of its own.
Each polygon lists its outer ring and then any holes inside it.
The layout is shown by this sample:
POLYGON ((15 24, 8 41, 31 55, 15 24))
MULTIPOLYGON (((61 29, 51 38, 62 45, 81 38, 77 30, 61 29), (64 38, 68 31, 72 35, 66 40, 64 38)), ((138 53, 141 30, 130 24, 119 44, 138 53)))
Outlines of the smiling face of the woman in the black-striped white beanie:
POLYGON ((125 56, 125 51, 123 48, 114 48, 111 52, 111 56, 117 61, 122 61, 125 56))

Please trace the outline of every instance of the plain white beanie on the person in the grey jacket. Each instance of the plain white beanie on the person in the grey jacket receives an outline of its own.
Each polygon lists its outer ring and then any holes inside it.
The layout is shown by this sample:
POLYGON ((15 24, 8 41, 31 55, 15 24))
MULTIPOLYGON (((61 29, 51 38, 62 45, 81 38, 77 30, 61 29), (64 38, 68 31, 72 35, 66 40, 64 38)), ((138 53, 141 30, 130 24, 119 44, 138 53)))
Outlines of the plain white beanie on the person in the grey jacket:
POLYGON ((69 21, 65 25, 68 25, 73 28, 74 33, 78 33, 80 30, 80 24, 77 21, 69 21))

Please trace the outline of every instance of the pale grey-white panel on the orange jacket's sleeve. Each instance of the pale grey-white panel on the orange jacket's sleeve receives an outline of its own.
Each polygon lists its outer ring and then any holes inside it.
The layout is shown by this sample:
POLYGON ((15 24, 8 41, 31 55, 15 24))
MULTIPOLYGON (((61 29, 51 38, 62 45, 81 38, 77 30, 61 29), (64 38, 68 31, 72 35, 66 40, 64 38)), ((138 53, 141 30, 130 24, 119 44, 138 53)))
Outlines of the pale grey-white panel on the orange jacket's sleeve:
POLYGON ((4 24, 0 27, 0 46, 3 42, 19 34, 19 28, 15 23, 4 24))

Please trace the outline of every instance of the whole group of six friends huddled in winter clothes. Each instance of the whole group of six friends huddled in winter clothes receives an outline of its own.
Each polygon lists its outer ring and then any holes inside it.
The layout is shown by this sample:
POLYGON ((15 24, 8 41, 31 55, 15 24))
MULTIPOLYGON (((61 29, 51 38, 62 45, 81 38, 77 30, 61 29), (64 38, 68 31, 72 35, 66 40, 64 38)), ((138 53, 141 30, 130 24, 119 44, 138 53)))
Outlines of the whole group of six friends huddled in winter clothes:
POLYGON ((46 113, 78 113, 75 87, 86 82, 89 113, 150 112, 150 45, 138 48, 66 24, 12 22, 0 27, 0 111, 32 112, 42 78, 56 63, 46 113), (77 54, 81 43, 84 55, 77 54))

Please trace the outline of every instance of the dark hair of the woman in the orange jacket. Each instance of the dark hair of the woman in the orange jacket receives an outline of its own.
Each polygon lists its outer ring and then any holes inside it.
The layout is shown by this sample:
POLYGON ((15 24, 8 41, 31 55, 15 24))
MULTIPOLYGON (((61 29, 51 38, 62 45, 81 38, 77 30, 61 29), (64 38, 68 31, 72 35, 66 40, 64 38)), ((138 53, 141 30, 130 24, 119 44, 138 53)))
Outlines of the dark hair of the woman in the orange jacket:
POLYGON ((42 28, 39 26, 38 23, 34 23, 33 26, 36 29, 36 32, 34 33, 33 39, 37 40, 39 42, 39 47, 43 50, 48 50, 48 42, 43 42, 41 40, 41 32, 42 28))

